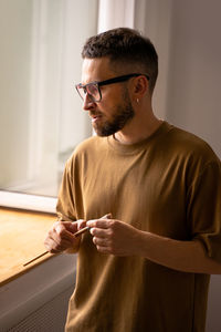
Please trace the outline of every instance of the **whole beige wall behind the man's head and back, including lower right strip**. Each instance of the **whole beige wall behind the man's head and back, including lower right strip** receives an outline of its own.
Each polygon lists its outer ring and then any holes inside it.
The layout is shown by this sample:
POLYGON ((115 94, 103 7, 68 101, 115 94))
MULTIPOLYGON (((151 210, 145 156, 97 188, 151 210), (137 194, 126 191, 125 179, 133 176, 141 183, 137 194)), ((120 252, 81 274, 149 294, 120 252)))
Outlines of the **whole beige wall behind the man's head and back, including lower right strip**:
MULTIPOLYGON (((221 1, 136 0, 135 27, 159 54, 155 113, 221 157, 221 1)), ((221 331, 221 276, 211 277, 207 332, 221 331)))

